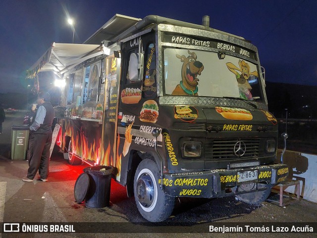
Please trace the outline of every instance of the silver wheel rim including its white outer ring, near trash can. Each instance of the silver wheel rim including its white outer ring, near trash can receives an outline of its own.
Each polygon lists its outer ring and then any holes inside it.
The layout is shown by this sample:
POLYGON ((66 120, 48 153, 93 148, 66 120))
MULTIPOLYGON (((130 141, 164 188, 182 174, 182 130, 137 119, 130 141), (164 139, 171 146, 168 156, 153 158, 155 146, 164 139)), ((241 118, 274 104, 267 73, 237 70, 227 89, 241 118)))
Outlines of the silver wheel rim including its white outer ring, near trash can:
POLYGON ((154 175, 149 169, 140 171, 136 192, 142 209, 147 212, 152 211, 157 203, 158 190, 154 175))

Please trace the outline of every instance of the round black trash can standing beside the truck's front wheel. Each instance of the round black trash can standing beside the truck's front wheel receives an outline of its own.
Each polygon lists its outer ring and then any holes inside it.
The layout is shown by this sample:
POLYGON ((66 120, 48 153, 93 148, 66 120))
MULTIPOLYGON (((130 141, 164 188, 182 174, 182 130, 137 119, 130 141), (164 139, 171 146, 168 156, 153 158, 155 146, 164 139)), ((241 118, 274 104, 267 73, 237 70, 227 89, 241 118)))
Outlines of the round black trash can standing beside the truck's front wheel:
POLYGON ((92 166, 84 169, 89 176, 89 188, 85 198, 88 208, 109 206, 112 166, 92 166))

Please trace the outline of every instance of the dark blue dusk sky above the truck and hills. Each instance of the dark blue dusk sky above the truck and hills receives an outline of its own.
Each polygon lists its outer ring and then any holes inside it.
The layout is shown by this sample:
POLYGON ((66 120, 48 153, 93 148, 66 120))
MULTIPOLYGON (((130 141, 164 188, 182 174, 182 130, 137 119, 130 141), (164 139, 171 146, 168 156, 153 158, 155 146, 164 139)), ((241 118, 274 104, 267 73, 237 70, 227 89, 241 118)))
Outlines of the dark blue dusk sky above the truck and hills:
MULTIPOLYGON (((0 93, 26 93, 25 72, 51 46, 81 44, 114 14, 159 15, 242 36, 258 47, 266 81, 317 86, 316 0, 1 0, 0 93)), ((40 77, 43 77, 40 73, 40 77)))

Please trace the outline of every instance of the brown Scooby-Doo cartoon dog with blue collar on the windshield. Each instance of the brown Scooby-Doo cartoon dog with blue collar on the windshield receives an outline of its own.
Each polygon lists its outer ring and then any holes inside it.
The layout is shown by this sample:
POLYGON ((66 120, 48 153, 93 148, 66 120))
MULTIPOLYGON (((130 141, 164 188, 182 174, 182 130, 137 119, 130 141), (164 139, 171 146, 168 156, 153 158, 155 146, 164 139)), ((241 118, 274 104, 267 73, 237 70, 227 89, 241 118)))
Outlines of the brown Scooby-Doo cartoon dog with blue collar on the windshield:
POLYGON ((189 56, 176 54, 176 57, 183 62, 182 66, 182 81, 176 86, 172 95, 198 95, 198 81, 197 75, 201 75, 204 70, 204 65, 197 61, 195 52, 188 50, 189 56))

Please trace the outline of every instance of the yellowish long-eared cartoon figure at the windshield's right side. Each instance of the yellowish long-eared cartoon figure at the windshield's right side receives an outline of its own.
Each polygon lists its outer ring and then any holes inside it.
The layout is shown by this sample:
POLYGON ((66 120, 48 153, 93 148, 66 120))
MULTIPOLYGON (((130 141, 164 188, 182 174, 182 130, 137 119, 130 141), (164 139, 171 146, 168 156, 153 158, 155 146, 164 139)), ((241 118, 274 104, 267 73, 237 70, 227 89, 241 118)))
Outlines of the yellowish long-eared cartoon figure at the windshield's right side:
POLYGON ((248 83, 248 79, 251 75, 258 77, 258 72, 253 71, 250 72, 250 66, 244 60, 239 60, 239 67, 235 66, 233 63, 226 63, 228 69, 235 74, 238 86, 245 85, 247 89, 252 89, 250 84, 248 83), (240 73, 238 73, 240 72, 240 73))

